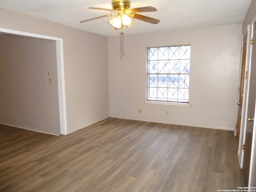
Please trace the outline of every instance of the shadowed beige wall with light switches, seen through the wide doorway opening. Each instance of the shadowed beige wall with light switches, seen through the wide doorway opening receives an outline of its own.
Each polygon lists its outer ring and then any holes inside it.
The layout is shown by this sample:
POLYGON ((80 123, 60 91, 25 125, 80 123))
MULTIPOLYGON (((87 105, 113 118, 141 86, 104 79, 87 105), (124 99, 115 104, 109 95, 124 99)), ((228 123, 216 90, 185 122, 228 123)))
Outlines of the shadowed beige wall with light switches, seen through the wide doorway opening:
POLYGON ((59 135, 56 42, 12 35, 0 42, 0 122, 59 135))

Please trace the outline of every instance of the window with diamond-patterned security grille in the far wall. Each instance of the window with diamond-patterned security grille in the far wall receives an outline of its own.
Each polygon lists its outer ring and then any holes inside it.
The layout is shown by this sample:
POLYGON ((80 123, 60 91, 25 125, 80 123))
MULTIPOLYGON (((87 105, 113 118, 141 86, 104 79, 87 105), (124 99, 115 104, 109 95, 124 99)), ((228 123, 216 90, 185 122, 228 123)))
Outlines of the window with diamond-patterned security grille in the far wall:
POLYGON ((148 48, 149 101, 188 103, 190 45, 148 48))

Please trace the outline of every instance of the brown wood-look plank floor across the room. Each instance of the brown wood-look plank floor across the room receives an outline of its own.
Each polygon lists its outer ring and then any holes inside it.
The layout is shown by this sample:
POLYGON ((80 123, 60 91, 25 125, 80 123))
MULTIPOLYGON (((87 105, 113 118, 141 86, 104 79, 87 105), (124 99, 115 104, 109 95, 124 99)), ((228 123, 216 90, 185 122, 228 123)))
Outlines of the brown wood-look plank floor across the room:
POLYGON ((244 186, 233 132, 108 118, 66 136, 0 125, 1 192, 217 192, 244 186))

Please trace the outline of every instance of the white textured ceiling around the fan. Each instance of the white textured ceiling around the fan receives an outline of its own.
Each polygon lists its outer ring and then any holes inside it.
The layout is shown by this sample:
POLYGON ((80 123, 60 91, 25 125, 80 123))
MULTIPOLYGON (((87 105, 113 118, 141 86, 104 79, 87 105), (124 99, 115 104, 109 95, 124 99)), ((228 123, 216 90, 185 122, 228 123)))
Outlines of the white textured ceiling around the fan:
MULTIPOLYGON (((130 8, 153 6, 157 12, 139 13, 160 20, 150 24, 132 19, 124 34, 138 34, 243 22, 252 0, 131 0, 130 8)), ((80 23, 110 14, 89 7, 112 9, 111 0, 0 0, 0 8, 42 18, 104 36, 117 36, 108 24, 109 17, 80 23)))

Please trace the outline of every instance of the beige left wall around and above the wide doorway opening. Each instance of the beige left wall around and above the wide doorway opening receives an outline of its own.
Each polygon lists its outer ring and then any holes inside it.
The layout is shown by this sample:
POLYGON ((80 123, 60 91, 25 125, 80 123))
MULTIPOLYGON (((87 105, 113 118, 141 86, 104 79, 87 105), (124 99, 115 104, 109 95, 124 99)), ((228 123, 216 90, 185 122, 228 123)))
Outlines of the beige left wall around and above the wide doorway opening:
POLYGON ((0 28, 63 38, 68 133, 109 116, 107 37, 7 10, 0 28))

